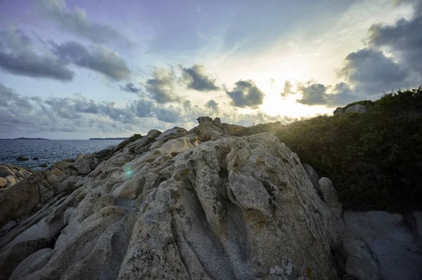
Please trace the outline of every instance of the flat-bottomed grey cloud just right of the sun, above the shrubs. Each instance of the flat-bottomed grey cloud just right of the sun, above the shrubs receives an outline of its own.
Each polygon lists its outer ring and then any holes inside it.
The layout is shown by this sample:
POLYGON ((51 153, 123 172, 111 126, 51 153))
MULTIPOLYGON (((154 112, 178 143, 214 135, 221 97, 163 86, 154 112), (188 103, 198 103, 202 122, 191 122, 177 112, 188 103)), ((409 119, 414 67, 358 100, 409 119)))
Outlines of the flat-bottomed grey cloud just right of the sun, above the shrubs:
POLYGON ((343 82, 333 87, 309 82, 306 85, 298 86, 298 93, 302 93, 302 98, 298 99, 297 102, 303 105, 334 107, 347 105, 359 99, 352 88, 343 82))

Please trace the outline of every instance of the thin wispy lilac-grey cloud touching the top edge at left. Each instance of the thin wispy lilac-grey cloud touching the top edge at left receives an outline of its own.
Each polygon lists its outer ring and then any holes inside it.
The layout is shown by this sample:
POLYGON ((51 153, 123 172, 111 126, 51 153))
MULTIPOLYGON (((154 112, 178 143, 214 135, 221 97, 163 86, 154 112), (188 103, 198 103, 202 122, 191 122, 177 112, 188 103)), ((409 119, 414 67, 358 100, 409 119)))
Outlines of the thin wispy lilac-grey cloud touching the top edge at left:
POLYGON ((74 34, 84 36, 94 43, 122 41, 124 38, 112 27, 89 22, 87 11, 76 8, 69 11, 64 0, 40 0, 39 3, 49 18, 59 23, 60 27, 74 34))

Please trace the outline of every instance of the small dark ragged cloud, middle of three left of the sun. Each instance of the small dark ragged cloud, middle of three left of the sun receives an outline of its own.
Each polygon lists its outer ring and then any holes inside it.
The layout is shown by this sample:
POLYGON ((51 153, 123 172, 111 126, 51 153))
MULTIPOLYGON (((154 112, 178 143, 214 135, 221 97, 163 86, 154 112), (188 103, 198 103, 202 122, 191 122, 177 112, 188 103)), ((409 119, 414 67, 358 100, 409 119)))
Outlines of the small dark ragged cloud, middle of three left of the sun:
POLYGON ((195 91, 217 91, 219 87, 215 84, 216 80, 210 78, 205 72, 203 65, 193 65, 190 68, 180 66, 184 82, 187 87, 195 91))

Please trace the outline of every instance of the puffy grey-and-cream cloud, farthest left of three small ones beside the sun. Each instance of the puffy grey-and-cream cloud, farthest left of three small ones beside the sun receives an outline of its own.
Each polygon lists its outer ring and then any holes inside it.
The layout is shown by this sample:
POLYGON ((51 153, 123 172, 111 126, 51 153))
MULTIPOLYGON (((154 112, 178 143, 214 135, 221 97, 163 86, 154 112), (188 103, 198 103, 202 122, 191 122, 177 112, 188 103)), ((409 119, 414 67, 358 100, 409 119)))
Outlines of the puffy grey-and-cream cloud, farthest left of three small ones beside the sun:
POLYGON ((153 76, 153 79, 148 79, 145 84, 146 91, 153 100, 160 104, 180 100, 174 93, 176 76, 172 70, 155 69, 153 76))

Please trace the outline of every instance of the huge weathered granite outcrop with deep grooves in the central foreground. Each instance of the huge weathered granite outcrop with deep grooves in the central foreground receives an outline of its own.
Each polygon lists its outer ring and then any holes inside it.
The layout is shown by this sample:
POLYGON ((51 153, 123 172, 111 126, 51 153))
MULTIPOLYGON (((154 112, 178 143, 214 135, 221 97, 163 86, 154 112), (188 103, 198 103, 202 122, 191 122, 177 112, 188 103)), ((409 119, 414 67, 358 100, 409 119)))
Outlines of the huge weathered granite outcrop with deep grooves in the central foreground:
POLYGON ((326 203, 298 156, 274 135, 232 137, 203 121, 212 127, 199 126, 200 135, 150 131, 101 162, 72 193, 50 199, 1 239, 1 273, 338 279, 330 248, 343 222, 329 180, 326 203))

